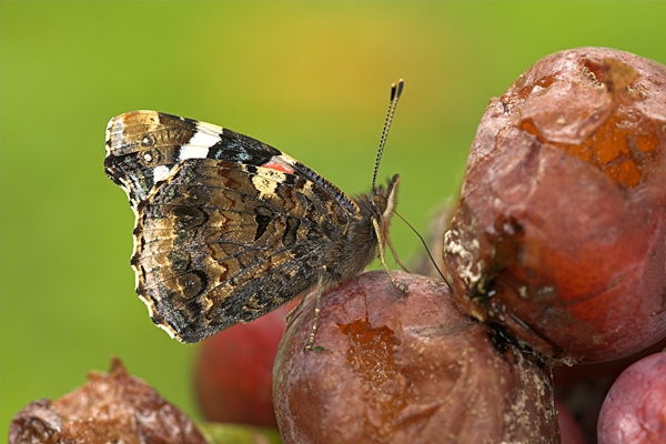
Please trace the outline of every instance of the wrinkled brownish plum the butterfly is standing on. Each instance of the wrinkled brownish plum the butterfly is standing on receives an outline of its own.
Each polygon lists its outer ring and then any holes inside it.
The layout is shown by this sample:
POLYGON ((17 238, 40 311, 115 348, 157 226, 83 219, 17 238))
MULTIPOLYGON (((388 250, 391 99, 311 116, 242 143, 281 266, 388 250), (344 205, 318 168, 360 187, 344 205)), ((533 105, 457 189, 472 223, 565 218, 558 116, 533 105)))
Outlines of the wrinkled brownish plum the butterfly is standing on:
POLYGON ((274 366, 285 443, 558 443, 547 369, 463 315, 442 281, 375 271, 311 297, 274 366))

